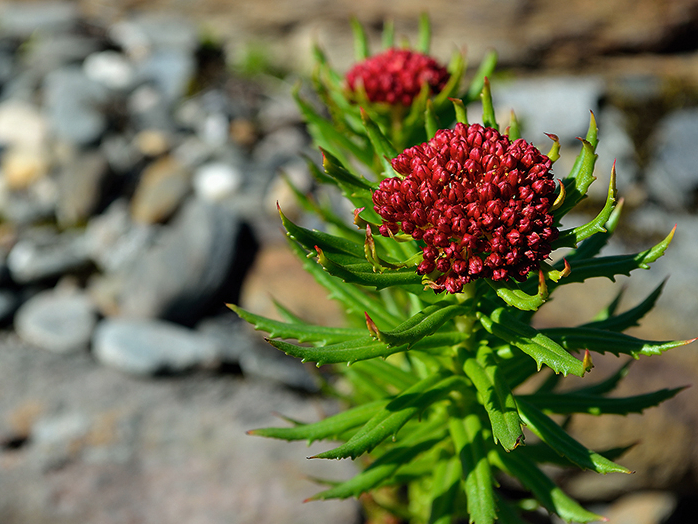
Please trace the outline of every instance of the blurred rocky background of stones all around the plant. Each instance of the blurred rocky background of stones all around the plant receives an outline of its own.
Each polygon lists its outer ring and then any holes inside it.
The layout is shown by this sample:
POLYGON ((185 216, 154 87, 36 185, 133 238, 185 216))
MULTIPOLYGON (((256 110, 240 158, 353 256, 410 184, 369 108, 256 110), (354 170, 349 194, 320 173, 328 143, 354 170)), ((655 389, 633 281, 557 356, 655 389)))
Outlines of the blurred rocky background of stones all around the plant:
MULTIPOLYGON (((634 334, 698 335, 696 0, 0 1, 0 522, 366 521, 356 501, 301 504, 309 477, 351 462, 245 435, 337 406, 224 304, 341 323, 278 223, 277 201, 305 220, 281 173, 310 189, 299 155, 317 154, 290 91, 314 41, 347 70, 351 16, 377 49, 385 19, 414 41, 425 9, 442 62, 465 49, 472 74, 497 50, 498 119, 514 109, 543 151, 557 134, 558 176, 594 111, 598 181, 568 225, 601 207, 614 160, 625 210, 607 253, 678 225, 651 272, 565 286, 541 325, 671 277, 634 334)), ((595 363, 597 380, 622 362, 595 363)), ((690 345, 634 364, 619 394, 697 376, 690 345)), ((565 476, 566 491, 612 523, 695 522, 697 405, 689 388, 643 416, 574 418, 589 447, 637 443, 621 460, 636 473, 565 476)))

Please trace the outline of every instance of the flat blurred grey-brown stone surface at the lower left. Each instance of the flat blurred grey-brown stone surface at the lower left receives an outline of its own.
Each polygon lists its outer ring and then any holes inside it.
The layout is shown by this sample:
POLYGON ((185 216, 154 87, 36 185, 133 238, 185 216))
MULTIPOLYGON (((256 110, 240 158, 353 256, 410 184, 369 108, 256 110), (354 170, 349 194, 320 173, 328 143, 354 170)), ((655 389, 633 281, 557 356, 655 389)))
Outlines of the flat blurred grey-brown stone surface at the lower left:
POLYGON ((86 354, 58 356, 0 333, 0 520, 4 524, 357 524, 353 500, 303 504, 308 476, 348 478, 329 448, 245 435, 335 406, 262 381, 131 378, 86 354))

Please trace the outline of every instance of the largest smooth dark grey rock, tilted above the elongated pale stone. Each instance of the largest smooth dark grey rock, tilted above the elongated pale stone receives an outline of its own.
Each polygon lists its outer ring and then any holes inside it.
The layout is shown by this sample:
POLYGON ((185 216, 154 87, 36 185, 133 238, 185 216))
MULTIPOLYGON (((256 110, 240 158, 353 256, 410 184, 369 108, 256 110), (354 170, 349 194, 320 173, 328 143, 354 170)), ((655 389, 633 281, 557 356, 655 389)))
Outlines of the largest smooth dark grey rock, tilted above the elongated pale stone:
POLYGON ((212 301, 222 304, 227 286, 242 278, 231 273, 240 231, 233 212, 188 200, 158 245, 126 272, 122 314, 189 323, 212 301))

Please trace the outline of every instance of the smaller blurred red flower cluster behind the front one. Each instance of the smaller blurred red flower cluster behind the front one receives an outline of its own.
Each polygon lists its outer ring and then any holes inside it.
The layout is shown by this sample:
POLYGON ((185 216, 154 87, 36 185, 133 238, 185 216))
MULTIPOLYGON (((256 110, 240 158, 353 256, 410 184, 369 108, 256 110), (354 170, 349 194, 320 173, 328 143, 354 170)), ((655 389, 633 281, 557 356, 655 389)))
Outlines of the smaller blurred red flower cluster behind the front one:
POLYGON ((371 102, 409 106, 426 82, 432 93, 441 91, 449 74, 433 58, 407 49, 388 49, 356 64, 347 73, 347 83, 356 91, 363 83, 371 102))

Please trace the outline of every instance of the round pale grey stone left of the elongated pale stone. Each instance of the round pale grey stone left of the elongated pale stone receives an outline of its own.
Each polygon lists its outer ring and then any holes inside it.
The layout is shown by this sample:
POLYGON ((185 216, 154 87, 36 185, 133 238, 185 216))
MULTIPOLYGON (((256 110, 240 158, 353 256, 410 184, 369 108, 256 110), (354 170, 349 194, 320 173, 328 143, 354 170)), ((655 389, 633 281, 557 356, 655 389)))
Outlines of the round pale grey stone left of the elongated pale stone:
POLYGON ((15 329, 29 343, 56 353, 87 349, 97 322, 89 298, 77 292, 49 290, 17 311, 15 329))

